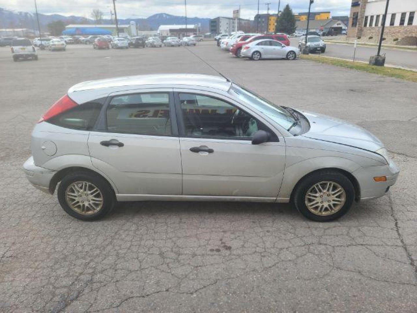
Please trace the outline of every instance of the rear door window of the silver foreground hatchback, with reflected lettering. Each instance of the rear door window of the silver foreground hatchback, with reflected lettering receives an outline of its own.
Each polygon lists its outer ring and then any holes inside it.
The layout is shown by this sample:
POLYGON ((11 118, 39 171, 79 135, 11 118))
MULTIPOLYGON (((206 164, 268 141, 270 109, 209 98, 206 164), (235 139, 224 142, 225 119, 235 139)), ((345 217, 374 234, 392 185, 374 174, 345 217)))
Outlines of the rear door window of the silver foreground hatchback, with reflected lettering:
POLYGON ((168 93, 115 96, 108 105, 107 131, 112 133, 171 135, 168 93))

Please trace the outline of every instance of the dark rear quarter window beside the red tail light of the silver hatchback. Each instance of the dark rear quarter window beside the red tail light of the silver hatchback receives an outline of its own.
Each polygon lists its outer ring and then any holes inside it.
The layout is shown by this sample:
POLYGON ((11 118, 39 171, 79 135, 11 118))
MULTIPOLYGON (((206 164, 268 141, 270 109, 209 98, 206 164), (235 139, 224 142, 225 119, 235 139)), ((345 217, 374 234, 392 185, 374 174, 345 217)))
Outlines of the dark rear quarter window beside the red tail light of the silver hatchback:
POLYGON ((97 99, 75 106, 48 119, 48 123, 69 129, 89 131, 94 127, 104 100, 105 98, 97 99))

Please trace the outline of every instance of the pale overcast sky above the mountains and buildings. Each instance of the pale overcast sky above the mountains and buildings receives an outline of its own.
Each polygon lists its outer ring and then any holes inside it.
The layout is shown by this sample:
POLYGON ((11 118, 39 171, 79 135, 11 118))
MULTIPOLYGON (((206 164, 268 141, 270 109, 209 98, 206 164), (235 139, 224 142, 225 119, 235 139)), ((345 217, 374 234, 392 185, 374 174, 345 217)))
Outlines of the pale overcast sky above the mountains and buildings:
MULTIPOLYGON (((260 0, 259 12, 266 13, 265 3, 271 2, 270 13, 278 9, 278 1, 260 0)), ((281 7, 289 3, 294 13, 308 10, 309 0, 281 1, 281 7)), ((352 0, 315 0, 311 11, 330 11, 332 15, 349 15, 352 0)), ((113 9, 112 0, 37 0, 38 12, 44 14, 79 15, 90 18, 93 9, 105 12, 110 18, 113 9)), ((187 16, 215 18, 232 16, 232 11, 241 5, 241 18, 253 19, 257 12, 257 0, 187 0, 187 16)), ((0 8, 8 10, 34 12, 33 0, 0 0, 0 8)), ((117 0, 118 18, 146 18, 155 13, 184 15, 184 0, 117 0)))

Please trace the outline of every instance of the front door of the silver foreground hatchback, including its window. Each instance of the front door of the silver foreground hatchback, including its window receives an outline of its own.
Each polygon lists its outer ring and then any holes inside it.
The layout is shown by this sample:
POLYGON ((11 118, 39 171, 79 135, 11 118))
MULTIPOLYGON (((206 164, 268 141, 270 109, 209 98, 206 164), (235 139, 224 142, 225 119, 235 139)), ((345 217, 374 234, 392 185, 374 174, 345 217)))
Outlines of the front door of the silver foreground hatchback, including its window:
POLYGON ((178 91, 176 112, 184 195, 275 200, 284 174, 283 138, 215 93, 178 91), (259 129, 268 131, 271 140, 251 144, 259 129))

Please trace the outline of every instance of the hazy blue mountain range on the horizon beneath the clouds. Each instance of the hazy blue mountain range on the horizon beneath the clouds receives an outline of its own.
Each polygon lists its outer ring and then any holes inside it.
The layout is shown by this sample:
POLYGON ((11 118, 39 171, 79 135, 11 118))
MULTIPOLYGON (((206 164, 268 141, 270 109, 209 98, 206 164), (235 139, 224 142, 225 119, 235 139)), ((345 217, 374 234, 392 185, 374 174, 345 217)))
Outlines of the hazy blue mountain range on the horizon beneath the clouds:
MULTIPOLYGON (((94 20, 82 16, 64 16, 60 14, 39 13, 41 28, 45 28, 50 22, 62 20, 66 24, 94 24, 94 20)), ((131 21, 138 24, 139 30, 157 30, 160 25, 185 24, 185 16, 176 16, 167 13, 157 13, 148 18, 125 18, 118 19, 119 24, 128 24, 131 21)), ((209 18, 187 17, 187 24, 200 24, 201 30, 208 31, 209 18)), ((102 24, 113 24, 114 21, 103 19, 102 24)), ((0 8, 0 28, 30 28, 38 29, 35 13, 16 12, 0 8)))

